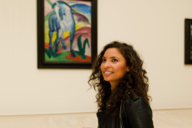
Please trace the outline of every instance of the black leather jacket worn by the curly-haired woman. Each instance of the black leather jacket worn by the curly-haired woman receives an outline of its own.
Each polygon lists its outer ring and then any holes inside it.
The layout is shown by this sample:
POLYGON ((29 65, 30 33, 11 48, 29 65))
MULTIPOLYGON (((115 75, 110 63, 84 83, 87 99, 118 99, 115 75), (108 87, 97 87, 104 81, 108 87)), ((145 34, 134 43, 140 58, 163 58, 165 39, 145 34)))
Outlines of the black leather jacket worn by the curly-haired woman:
MULTIPOLYGON (((98 128, 120 128, 120 118, 111 116, 107 110, 97 113, 98 128)), ((122 128, 154 128, 152 110, 149 104, 143 99, 127 98, 121 106, 122 128)))

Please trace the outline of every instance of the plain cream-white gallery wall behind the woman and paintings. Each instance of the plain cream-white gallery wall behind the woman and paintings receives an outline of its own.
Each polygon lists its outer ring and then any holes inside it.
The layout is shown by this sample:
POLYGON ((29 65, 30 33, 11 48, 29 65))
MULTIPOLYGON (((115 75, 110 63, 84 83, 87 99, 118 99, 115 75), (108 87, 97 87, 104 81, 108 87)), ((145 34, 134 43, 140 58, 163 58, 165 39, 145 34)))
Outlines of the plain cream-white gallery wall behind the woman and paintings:
MULTIPOLYGON (((0 7, 0 115, 96 112, 91 69, 37 69, 36 0, 0 7)), ((98 0, 98 52, 132 44, 148 72, 152 109, 192 108, 192 65, 184 65, 191 0, 98 0)))

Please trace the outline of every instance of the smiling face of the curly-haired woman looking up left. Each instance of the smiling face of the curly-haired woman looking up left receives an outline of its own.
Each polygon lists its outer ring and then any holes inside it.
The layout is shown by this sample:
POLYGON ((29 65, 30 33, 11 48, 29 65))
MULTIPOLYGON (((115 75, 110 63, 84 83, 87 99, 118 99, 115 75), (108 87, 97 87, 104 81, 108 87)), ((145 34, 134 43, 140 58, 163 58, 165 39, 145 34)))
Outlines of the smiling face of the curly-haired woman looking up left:
POLYGON ((126 72, 129 72, 126 60, 117 48, 108 48, 105 51, 100 68, 104 80, 111 85, 117 85, 126 72))

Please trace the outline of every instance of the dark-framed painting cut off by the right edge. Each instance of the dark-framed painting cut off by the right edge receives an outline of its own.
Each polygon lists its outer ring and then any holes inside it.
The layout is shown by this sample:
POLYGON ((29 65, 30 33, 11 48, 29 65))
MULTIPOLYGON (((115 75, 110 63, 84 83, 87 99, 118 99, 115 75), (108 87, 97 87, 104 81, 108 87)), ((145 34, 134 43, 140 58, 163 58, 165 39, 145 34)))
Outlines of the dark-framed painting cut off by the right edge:
POLYGON ((192 64, 192 19, 185 19, 185 64, 192 64))

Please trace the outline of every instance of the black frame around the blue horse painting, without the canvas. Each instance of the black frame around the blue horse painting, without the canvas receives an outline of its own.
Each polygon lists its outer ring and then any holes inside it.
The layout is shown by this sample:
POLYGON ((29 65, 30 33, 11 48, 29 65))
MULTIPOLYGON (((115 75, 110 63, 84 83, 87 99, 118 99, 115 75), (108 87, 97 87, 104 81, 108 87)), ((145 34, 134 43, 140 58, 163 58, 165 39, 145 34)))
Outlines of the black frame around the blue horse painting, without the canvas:
MULTIPOLYGON (((97 56, 97 0, 91 2, 91 62, 46 62, 44 46, 44 1, 37 0, 37 68, 48 69, 91 69, 97 56)), ((60 0, 65 1, 65 0, 60 0)), ((75 1, 75 0, 74 0, 75 1)))

